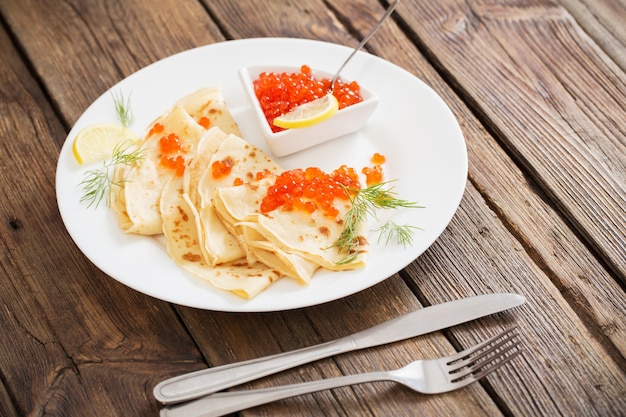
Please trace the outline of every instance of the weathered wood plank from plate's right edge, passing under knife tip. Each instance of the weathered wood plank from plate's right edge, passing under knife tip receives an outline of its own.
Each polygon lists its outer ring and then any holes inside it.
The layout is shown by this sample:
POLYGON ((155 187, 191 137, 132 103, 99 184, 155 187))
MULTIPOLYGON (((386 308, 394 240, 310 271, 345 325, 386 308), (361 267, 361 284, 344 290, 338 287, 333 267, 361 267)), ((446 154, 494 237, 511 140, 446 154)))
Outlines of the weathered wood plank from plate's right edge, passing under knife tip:
MULTIPOLYGON (((506 232, 482 196, 468 188, 464 198, 456 221, 429 251, 431 256, 409 266, 415 285, 429 298, 486 289, 527 297, 515 321, 524 339, 524 368, 533 374, 522 376, 509 367, 494 377, 509 383, 493 384, 514 415, 619 415, 626 409, 626 378, 620 369, 624 358, 612 358, 604 351, 594 334, 597 329, 587 329, 576 317, 559 288, 506 232), (438 246, 445 249, 437 251, 438 246), (432 285, 433 274, 441 270, 448 271, 450 279, 432 285), (604 382, 598 384, 600 380, 604 382), (515 392, 503 391, 502 387, 511 386, 515 392), (572 396, 562 398, 565 390, 572 396), (533 409, 534 402, 542 404, 541 408, 533 409)), ((473 336, 462 333, 455 335, 464 345, 475 343, 473 336)))

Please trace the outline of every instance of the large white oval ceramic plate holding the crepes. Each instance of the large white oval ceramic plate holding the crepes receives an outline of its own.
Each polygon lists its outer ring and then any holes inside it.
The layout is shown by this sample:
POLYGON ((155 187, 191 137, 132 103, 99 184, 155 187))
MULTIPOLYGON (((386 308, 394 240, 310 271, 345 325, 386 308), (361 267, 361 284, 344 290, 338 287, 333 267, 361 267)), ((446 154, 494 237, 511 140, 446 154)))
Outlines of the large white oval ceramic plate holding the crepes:
MULTIPOLYGON (((72 141, 83 127, 116 122, 112 92, 131 97, 133 130, 148 124, 179 98, 206 86, 222 90, 245 139, 267 150, 239 80, 239 69, 252 65, 302 65, 333 72, 351 48, 302 39, 261 38, 212 44, 173 55, 132 74, 98 98, 76 122, 61 150, 56 188, 59 210, 80 250, 98 268, 121 283, 161 300, 220 311, 277 311, 336 300, 371 287, 422 254, 448 225, 465 189, 467 152, 460 127, 443 100, 407 71, 365 52, 342 72, 367 86, 379 105, 359 132, 314 148, 276 158, 286 169, 318 166, 330 171, 342 164, 360 169, 371 165, 375 152, 387 158, 384 172, 398 197, 422 209, 380 213, 378 222, 419 226, 413 245, 403 248, 377 243, 370 236, 367 267, 348 272, 318 272, 309 286, 282 279, 252 300, 216 290, 179 268, 160 238, 127 235, 106 206, 80 203, 79 183, 87 170, 72 155, 72 141)), ((377 222, 372 222, 375 228, 377 222)))

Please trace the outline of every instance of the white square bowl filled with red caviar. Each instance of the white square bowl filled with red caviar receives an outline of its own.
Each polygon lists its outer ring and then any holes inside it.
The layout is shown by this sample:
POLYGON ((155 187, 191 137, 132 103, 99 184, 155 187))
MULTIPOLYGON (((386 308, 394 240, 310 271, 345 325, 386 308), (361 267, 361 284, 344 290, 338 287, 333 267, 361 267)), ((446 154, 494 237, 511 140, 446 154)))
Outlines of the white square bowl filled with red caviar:
POLYGON ((312 126, 283 129, 273 120, 293 108, 328 94, 334 74, 308 65, 242 68, 240 77, 270 151, 285 156, 362 129, 378 97, 357 81, 338 79, 333 88, 339 110, 312 126))

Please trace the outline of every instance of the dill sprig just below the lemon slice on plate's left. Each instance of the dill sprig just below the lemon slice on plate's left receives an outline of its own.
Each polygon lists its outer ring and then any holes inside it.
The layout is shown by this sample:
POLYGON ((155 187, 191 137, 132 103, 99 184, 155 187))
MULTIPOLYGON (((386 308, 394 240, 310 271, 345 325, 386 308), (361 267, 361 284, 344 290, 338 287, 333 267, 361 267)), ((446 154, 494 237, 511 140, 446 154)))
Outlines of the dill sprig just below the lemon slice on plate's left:
POLYGON ((143 159, 143 149, 135 148, 132 143, 123 142, 118 144, 113 150, 113 156, 110 160, 104 161, 100 169, 92 169, 83 175, 80 186, 83 188, 83 195, 80 198, 81 203, 87 203, 87 207, 95 206, 97 208, 100 203, 105 200, 107 204, 109 200, 106 198, 109 194, 111 186, 120 186, 123 181, 113 181, 111 179, 110 169, 116 165, 131 165, 143 159))

